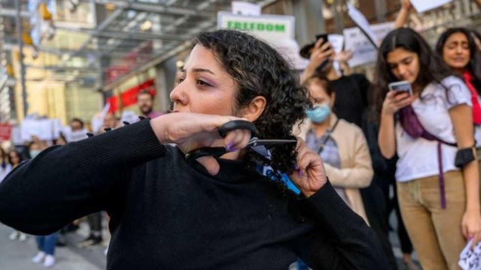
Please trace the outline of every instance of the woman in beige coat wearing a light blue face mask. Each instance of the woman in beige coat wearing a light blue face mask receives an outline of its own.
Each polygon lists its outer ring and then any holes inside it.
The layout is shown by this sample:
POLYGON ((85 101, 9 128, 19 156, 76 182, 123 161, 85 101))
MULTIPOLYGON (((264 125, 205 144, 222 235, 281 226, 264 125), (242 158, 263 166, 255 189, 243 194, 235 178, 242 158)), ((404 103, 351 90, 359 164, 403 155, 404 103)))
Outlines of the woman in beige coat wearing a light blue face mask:
POLYGON ((335 93, 325 77, 314 75, 306 79, 305 85, 314 108, 294 133, 321 155, 332 186, 369 224, 359 192, 371 184, 374 174, 366 138, 358 126, 331 112, 335 93))

